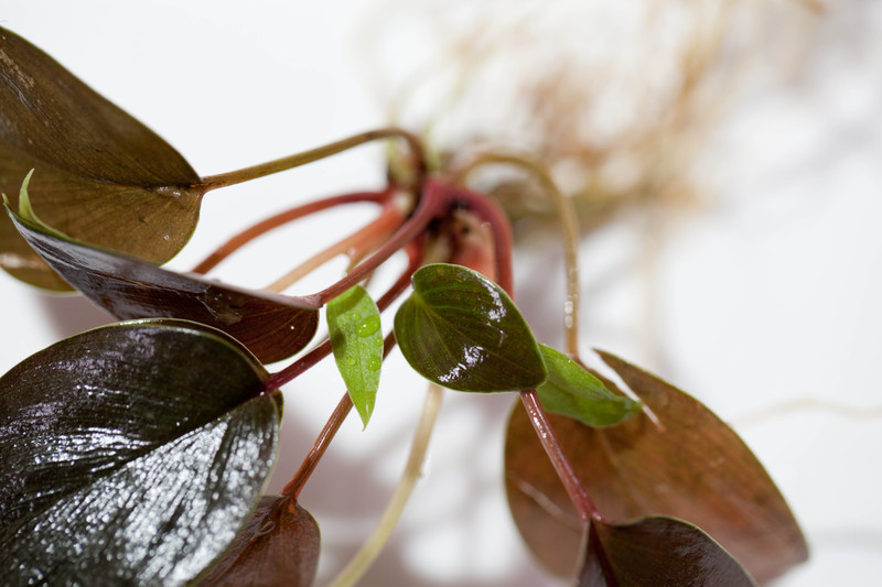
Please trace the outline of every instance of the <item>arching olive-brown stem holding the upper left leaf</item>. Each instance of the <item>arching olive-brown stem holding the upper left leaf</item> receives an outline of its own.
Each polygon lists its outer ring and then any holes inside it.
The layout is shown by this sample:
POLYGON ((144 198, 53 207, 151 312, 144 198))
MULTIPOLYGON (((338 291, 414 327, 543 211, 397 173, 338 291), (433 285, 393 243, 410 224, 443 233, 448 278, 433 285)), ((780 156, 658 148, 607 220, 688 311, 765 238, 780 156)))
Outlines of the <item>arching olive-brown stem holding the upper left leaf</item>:
POLYGON ((259 165, 252 165, 250 167, 245 167, 228 173, 220 173, 217 175, 207 175, 202 178, 202 184, 200 187, 204 192, 208 192, 218 187, 227 187, 230 185, 240 184, 243 182, 249 182, 251 180, 266 177, 267 175, 272 175, 273 173, 287 171, 300 165, 305 165, 306 163, 312 163, 313 161, 319 161, 321 159, 335 155, 366 142, 390 137, 399 137, 407 141, 413 156, 415 169, 417 170, 417 184, 421 184, 422 180, 426 177, 426 156, 422 149, 422 142, 415 134, 411 134, 406 130, 398 128, 386 128, 363 132, 347 139, 334 141, 333 143, 329 143, 316 149, 303 151, 302 153, 295 153, 293 155, 269 161, 267 163, 260 163, 259 165))

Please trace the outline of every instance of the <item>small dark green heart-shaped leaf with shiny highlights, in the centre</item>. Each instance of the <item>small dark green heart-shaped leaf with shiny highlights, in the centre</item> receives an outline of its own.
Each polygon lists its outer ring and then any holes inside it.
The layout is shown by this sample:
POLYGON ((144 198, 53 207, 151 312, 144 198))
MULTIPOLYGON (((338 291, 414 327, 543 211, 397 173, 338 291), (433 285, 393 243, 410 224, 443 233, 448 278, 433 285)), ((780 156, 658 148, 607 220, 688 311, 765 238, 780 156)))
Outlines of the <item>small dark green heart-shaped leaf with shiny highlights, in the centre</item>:
POLYGON ((412 282, 395 337, 417 372, 458 391, 520 391, 546 380, 536 339, 498 285, 441 263, 421 268, 412 282))

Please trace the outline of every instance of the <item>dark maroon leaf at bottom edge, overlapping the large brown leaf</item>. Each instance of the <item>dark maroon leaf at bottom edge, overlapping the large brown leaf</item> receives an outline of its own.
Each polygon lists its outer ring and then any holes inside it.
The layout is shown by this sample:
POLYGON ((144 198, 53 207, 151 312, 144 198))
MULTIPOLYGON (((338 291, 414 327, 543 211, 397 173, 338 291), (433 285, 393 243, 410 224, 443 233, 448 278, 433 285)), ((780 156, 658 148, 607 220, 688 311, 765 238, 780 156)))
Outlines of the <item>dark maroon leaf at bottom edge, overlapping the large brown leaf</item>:
POLYGON ((756 587, 731 554, 698 528, 667 517, 592 521, 579 587, 756 587))

